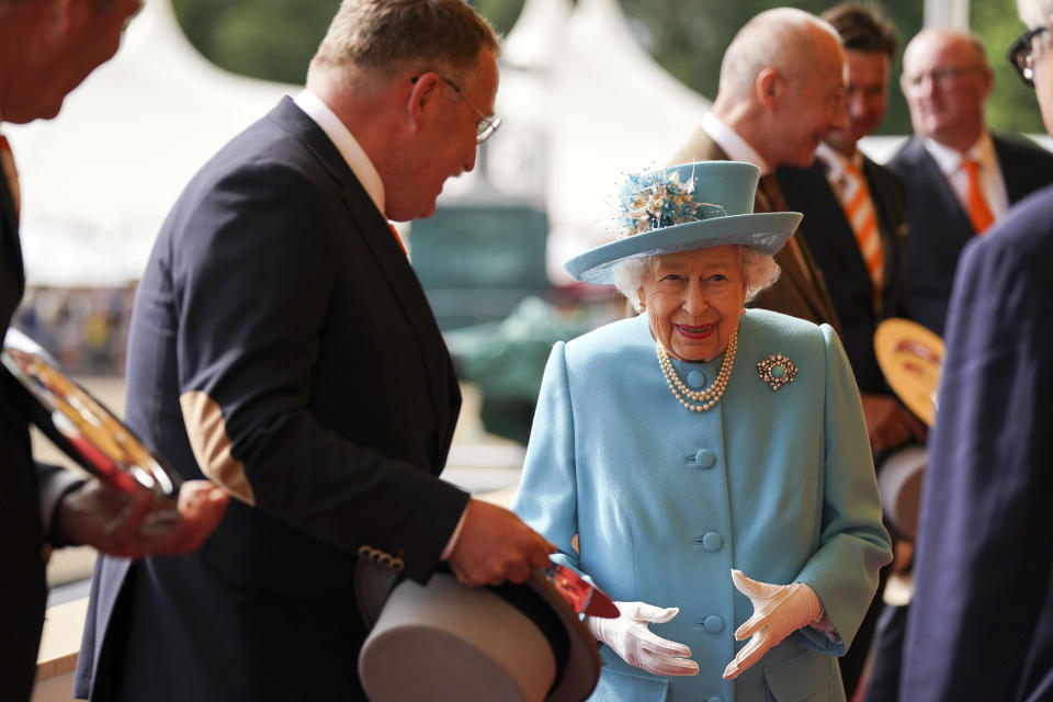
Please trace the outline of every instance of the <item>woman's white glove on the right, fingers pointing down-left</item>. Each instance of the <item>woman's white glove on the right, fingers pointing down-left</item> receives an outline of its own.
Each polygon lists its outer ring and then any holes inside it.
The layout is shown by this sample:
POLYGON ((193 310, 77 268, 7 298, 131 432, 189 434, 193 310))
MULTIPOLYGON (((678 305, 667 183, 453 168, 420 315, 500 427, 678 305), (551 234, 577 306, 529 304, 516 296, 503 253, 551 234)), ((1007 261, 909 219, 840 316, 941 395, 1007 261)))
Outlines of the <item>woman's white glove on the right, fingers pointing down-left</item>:
POLYGON ((734 680, 744 670, 760 660, 769 648, 793 632, 823 619, 823 603, 815 590, 804 582, 769 585, 758 582, 732 570, 732 581, 738 591, 754 603, 754 615, 735 632, 735 639, 752 636, 735 659, 724 669, 724 678, 734 680))

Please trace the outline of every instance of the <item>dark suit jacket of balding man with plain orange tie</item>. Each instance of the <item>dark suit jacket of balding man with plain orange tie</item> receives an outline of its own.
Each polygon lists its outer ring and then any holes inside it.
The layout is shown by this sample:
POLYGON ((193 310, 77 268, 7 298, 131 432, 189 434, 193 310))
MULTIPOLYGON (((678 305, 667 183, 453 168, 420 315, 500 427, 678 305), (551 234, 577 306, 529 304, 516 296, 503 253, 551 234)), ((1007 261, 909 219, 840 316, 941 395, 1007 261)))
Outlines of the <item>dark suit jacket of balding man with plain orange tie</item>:
MULTIPOLYGON (((1010 205, 1053 183, 1053 154, 1031 143, 992 138, 1010 205)), ((942 336, 958 258, 976 233, 922 139, 912 137, 887 166, 907 190, 907 307, 913 319, 942 336)))

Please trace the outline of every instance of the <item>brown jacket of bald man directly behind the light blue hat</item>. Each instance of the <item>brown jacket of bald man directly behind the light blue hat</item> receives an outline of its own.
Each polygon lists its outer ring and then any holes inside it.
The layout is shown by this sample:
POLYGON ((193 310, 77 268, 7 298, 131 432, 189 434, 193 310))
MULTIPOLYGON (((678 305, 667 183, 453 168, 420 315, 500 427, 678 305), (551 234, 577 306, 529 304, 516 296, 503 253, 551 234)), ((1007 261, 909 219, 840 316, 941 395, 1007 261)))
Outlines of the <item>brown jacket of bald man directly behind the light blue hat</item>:
MULTIPOLYGON (((672 157, 671 163, 691 163, 693 161, 726 161, 727 154, 710 138, 701 127, 691 136, 687 144, 672 157)), ((774 203, 757 189, 754 212, 777 212, 774 203)), ((782 269, 779 280, 769 290, 761 293, 748 304, 749 307, 759 307, 781 312, 785 315, 807 319, 815 324, 828 324, 840 333, 841 328, 834 309, 830 294, 826 290, 823 273, 812 258, 804 240, 794 235, 782 250, 775 254, 775 262, 782 269), (794 252, 793 240, 796 239, 801 258, 794 252), (801 261, 804 261, 802 265, 801 261)))

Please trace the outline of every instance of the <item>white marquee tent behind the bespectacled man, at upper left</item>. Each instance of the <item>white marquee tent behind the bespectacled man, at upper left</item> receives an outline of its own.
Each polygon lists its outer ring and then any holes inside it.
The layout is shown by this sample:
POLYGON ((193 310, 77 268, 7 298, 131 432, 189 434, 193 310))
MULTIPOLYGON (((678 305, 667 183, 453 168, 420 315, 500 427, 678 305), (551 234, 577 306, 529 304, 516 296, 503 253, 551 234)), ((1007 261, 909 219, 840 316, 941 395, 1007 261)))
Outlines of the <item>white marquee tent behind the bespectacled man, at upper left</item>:
POLYGON ((147 0, 117 56, 57 118, 5 127, 22 183, 29 282, 137 280, 190 177, 295 90, 216 68, 186 41, 169 0, 147 0))

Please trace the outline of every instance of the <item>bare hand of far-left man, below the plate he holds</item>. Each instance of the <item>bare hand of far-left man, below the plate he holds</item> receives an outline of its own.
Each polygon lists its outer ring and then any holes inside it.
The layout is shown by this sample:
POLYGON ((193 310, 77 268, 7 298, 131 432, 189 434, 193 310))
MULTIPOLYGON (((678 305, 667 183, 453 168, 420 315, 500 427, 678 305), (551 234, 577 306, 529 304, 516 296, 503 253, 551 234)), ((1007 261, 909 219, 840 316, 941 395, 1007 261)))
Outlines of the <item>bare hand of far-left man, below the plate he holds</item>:
POLYGON ((228 501, 207 480, 183 483, 171 509, 145 492, 128 494, 91 479, 63 499, 57 519, 67 541, 111 556, 179 555, 204 543, 228 501))

